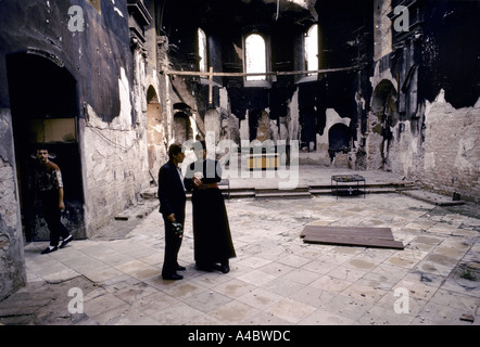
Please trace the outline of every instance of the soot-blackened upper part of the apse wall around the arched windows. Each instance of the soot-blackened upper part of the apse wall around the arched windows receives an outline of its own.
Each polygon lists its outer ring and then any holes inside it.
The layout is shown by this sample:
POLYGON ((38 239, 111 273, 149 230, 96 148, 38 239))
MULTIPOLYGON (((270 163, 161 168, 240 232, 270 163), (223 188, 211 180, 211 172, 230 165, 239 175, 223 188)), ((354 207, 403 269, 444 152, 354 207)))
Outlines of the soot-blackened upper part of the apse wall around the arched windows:
MULTIPOLYGON (((334 137, 329 150, 333 153, 341 151, 355 140, 356 129, 353 125, 358 117, 355 91, 363 86, 364 92, 369 92, 366 72, 372 55, 371 28, 367 26, 372 21, 370 3, 177 1, 166 2, 157 11, 161 12, 157 31, 168 38, 168 52, 175 70, 201 70, 204 64, 214 72, 230 74, 214 77, 214 90, 227 90, 231 113, 239 120, 249 115, 250 141, 256 139, 258 119, 265 110, 268 110, 270 120, 285 123, 289 116, 289 103, 296 90, 303 150, 316 150, 316 133, 323 134, 325 131, 325 112, 329 107, 338 110, 341 117, 353 118, 352 127, 345 134, 348 138, 334 137), (305 54, 305 37, 313 26, 321 33, 318 35, 319 49, 315 54, 315 65, 306 60, 305 54), (200 61, 197 54, 199 28, 206 34, 207 48, 207 56, 200 61), (265 41, 265 70, 269 73, 256 80, 249 80, 242 75, 247 69, 244 39, 252 34, 260 35, 265 41), (331 74, 307 73, 328 68, 341 70, 331 74)), ((207 98, 209 86, 204 77, 184 78, 187 86, 185 92, 193 91, 200 95, 200 113, 207 107, 218 106, 215 104, 218 98, 207 98)))

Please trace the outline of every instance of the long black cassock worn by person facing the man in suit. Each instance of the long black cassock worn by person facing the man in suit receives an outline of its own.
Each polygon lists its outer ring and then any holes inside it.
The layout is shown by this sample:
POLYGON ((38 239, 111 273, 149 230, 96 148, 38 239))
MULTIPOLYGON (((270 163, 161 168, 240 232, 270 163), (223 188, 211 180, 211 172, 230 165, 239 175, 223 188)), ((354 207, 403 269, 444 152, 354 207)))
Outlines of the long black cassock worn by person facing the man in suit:
POLYGON ((236 257, 224 196, 218 188, 212 188, 219 181, 222 167, 212 159, 190 164, 184 181, 185 188, 192 192, 194 259, 202 267, 236 257), (194 187, 195 172, 201 172, 206 187, 194 187))

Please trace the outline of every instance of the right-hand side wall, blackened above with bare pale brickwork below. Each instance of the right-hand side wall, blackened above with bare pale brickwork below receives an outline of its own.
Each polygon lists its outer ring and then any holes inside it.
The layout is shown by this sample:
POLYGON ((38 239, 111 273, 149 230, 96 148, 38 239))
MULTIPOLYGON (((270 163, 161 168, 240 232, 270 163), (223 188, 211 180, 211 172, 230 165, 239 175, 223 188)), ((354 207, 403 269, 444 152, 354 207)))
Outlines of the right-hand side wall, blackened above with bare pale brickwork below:
POLYGON ((384 1, 382 10, 388 5, 382 21, 392 29, 376 41, 391 35, 391 46, 371 77, 366 167, 478 202, 479 3, 384 1), (408 9, 404 30, 393 26, 399 4, 408 9))

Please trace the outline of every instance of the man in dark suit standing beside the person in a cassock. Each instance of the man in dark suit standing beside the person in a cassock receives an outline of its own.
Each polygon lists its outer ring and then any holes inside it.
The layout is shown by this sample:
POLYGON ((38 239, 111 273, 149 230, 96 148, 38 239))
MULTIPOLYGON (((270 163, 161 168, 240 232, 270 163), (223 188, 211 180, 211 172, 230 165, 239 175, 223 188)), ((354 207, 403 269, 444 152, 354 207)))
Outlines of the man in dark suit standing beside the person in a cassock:
POLYGON ((181 170, 178 164, 184 162, 181 145, 174 143, 168 149, 169 160, 159 171, 160 213, 165 221, 165 258, 162 268, 164 280, 181 280, 177 271, 185 270, 177 262, 181 246, 185 222, 186 195, 181 170))

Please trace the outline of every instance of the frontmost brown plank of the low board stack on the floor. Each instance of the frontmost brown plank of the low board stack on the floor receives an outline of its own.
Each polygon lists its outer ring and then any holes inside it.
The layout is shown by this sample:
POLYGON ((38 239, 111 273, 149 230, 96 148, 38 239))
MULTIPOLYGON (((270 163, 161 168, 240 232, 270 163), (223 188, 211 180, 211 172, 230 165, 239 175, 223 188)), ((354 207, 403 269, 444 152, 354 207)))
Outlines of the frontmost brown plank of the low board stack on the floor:
POLYGON ((334 235, 305 235, 304 243, 326 245, 361 246, 375 248, 404 249, 403 243, 394 240, 374 239, 366 236, 334 236, 334 235))

